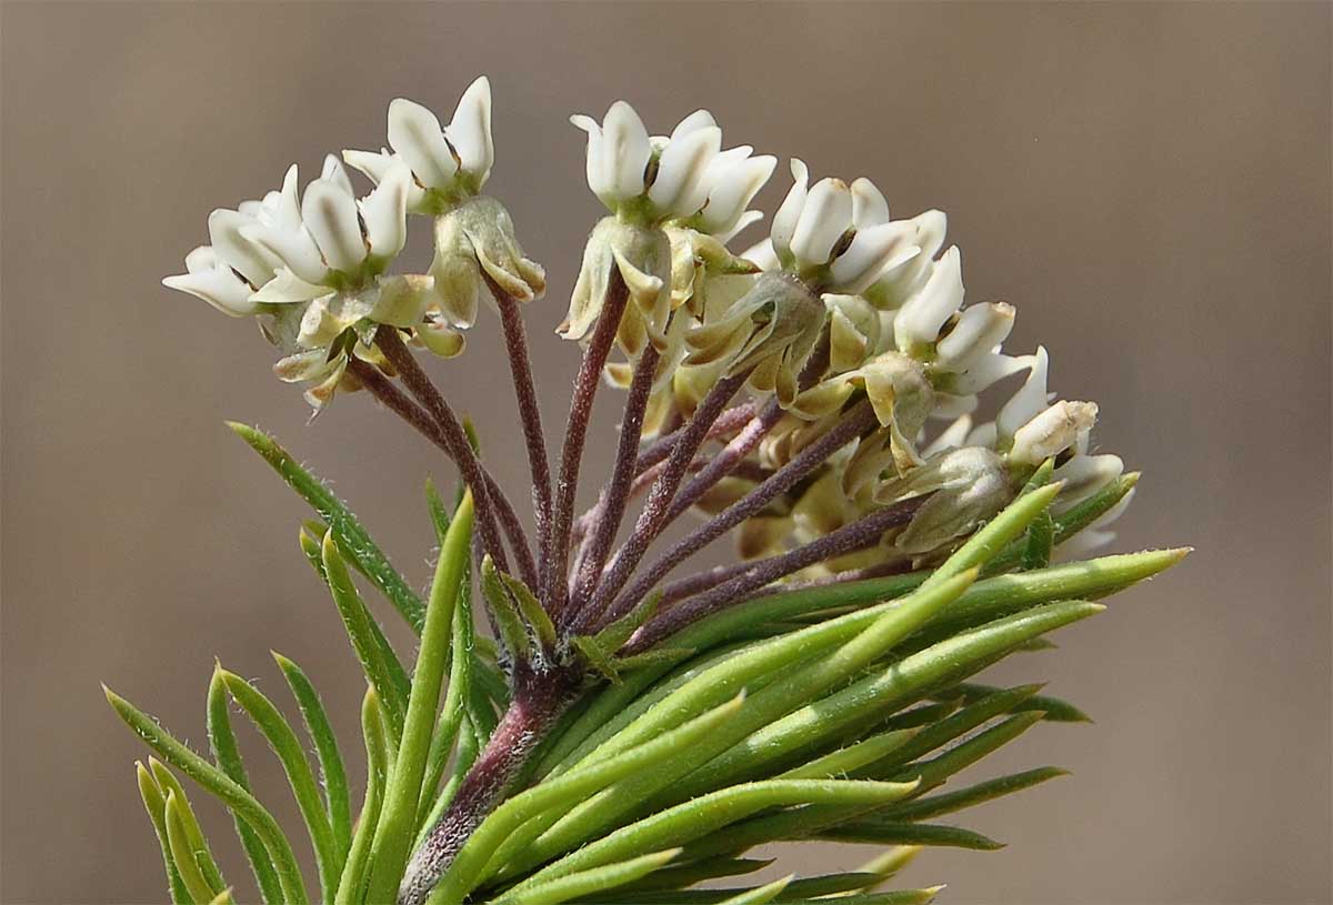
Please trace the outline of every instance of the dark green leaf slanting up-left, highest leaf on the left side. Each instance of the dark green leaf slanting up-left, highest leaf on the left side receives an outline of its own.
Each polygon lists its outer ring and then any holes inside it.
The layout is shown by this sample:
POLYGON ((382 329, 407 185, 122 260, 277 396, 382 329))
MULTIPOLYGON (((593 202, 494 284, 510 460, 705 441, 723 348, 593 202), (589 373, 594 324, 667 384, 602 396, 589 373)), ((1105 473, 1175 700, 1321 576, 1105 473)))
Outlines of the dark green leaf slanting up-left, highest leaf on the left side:
POLYGON ((320 478, 301 468, 300 462, 292 458, 273 437, 236 421, 228 421, 227 427, 249 444, 251 449, 263 456, 264 461, 319 513, 320 518, 328 522, 329 530, 337 537, 339 545, 348 557, 403 614, 412 630, 420 634, 425 618, 425 605, 407 580, 393 568, 384 550, 371 540, 369 533, 352 514, 352 510, 320 478))

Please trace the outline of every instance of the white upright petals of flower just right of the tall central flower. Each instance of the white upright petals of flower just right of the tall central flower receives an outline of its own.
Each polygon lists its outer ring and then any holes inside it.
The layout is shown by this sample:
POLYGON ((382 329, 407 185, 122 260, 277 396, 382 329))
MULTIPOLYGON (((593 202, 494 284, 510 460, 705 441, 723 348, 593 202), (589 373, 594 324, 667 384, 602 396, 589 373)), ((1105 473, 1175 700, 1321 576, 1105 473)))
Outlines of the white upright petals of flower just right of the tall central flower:
POLYGON ((809 169, 797 159, 792 179, 773 216, 772 248, 784 267, 821 291, 856 295, 920 252, 909 241, 912 231, 889 220, 889 205, 869 180, 848 185, 828 177, 809 187, 809 169))

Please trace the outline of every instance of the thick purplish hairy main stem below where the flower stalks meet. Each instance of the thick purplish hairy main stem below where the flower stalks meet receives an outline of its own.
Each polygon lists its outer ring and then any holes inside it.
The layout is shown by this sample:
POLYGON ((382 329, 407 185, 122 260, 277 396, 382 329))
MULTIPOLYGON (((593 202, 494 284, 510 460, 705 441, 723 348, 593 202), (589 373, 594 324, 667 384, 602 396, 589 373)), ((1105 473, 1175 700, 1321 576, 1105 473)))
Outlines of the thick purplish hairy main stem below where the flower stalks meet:
POLYGON ((423 905, 472 832, 512 790, 537 744, 573 702, 581 676, 515 670, 515 696, 453 801, 408 861, 399 905, 423 905))

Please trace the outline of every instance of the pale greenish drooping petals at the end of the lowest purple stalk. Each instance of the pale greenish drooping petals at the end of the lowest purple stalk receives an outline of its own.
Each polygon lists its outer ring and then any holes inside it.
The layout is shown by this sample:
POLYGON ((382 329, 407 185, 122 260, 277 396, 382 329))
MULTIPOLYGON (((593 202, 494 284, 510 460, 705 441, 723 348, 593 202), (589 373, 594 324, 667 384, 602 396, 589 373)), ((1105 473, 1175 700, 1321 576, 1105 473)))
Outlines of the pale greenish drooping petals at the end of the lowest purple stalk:
POLYGON ((978 525, 993 518, 1013 497, 1004 460, 990 449, 949 449, 906 476, 885 481, 874 492, 888 505, 932 493, 893 546, 909 556, 950 548, 978 525))

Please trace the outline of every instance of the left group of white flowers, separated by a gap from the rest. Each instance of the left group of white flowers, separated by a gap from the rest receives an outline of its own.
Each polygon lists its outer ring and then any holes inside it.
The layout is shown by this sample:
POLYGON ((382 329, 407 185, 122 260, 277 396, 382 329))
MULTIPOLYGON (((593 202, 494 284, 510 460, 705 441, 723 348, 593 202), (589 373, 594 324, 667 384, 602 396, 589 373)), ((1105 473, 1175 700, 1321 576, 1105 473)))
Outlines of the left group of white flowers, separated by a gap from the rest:
POLYGON ((480 195, 495 163, 491 84, 477 79, 448 127, 420 104, 389 104, 389 148, 344 151, 373 183, 357 197, 337 157, 297 188, 293 164, 283 187, 235 211, 213 211, 209 244, 185 259, 187 272, 163 283, 233 317, 256 315, 284 357, 283 380, 309 384, 319 411, 337 389, 355 389, 351 356, 383 367, 376 328, 408 331, 441 356, 463 351, 461 331, 492 283, 528 301, 545 289, 541 268, 524 257, 508 212, 480 195), (408 215, 436 220, 431 273, 389 276, 407 243, 408 215))

